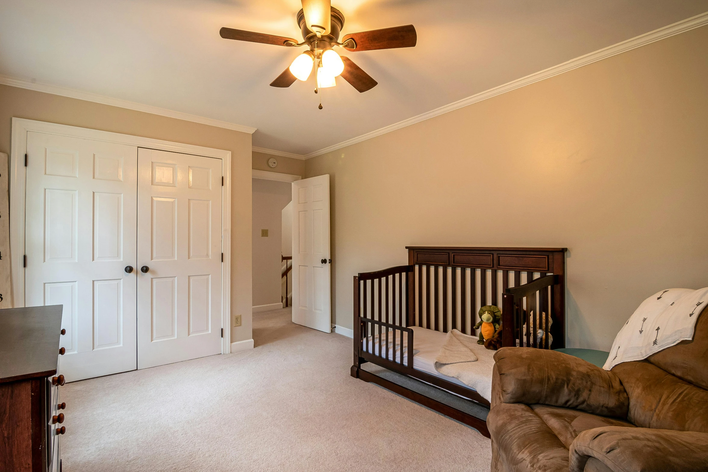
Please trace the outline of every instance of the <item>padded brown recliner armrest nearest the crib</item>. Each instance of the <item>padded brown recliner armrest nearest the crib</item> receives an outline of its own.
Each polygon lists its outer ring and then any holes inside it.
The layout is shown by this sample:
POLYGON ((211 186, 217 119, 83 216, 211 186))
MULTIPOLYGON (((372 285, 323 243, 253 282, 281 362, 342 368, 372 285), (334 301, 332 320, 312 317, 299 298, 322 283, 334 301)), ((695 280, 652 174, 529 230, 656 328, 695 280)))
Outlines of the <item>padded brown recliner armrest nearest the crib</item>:
POLYGON ((496 401, 542 403, 627 418, 629 398, 619 377, 590 362, 534 347, 502 347, 494 360, 496 401))

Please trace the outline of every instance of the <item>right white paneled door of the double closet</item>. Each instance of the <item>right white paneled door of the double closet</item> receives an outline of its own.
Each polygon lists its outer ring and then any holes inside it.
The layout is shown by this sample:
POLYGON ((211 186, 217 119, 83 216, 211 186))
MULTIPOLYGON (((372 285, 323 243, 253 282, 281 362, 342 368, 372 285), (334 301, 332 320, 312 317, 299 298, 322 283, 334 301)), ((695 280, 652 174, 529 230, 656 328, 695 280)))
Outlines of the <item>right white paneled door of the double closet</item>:
POLYGON ((222 160, 139 149, 137 217, 138 368, 221 353, 222 160))

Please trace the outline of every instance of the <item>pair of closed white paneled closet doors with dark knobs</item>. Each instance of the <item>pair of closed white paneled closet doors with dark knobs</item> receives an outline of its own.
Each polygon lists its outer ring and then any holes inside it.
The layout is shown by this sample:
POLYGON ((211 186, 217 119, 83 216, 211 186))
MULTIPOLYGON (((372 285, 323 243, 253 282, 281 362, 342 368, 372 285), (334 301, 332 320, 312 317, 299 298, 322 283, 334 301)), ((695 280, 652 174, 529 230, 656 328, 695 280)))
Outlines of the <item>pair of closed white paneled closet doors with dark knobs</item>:
POLYGON ((222 352, 222 160, 27 140, 25 306, 64 306, 67 381, 222 352))

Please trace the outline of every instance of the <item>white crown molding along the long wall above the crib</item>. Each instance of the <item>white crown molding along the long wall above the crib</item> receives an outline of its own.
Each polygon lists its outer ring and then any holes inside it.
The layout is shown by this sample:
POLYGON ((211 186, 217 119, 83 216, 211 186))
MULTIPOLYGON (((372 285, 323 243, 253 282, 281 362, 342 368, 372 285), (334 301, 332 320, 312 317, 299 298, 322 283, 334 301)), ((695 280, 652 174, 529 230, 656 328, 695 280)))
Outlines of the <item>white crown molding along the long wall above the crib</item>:
POLYGON ((568 62, 564 62, 563 64, 558 64, 557 66, 549 67, 549 69, 536 72, 535 74, 530 74, 528 76, 522 77, 521 79, 510 81, 507 84, 490 88, 489 90, 476 93, 475 95, 469 96, 467 98, 462 98, 462 100, 457 100, 456 102, 452 102, 440 108, 435 108, 435 110, 430 110, 429 112, 408 118, 407 120, 399 121, 397 123, 394 123, 393 125, 388 125, 379 129, 375 129, 374 131, 362 134, 361 136, 354 137, 352 139, 347 139, 346 141, 334 144, 333 146, 328 146, 326 148, 320 149, 319 151, 314 151, 309 154, 305 154, 304 159, 311 159, 316 156, 321 156, 322 154, 326 154, 331 151, 336 151, 337 149, 341 149, 343 147, 356 144, 358 142, 366 141, 367 139, 371 139, 373 137, 381 136, 382 134, 395 131, 396 129, 414 125, 424 120, 429 120, 430 118, 442 115, 443 113, 448 113, 453 110, 457 110, 458 108, 463 108, 468 105, 472 105, 473 103, 481 102, 482 100, 501 95, 502 93, 513 91, 516 88, 521 88, 523 86, 534 84, 535 82, 542 81, 544 79, 549 79, 553 76, 563 74, 564 72, 572 71, 573 69, 578 69, 579 67, 583 67, 588 64, 593 64, 593 62, 598 62, 603 59, 607 59, 608 57, 616 56, 617 54, 622 54, 622 52, 631 51, 633 49, 636 49, 637 47, 649 45, 652 42, 663 40, 665 38, 670 38, 671 36, 678 35, 680 33, 685 33, 686 31, 693 30, 695 28, 700 28, 704 25, 708 25, 708 12, 701 13, 697 16, 692 16, 691 18, 687 18, 683 21, 678 21, 677 23, 673 23, 672 25, 664 26, 663 28, 659 28, 658 30, 653 30, 649 33, 636 36, 636 38, 618 42, 616 45, 605 47, 604 49, 595 52, 590 52, 589 54, 585 54, 584 56, 576 57, 575 59, 571 59, 568 62))

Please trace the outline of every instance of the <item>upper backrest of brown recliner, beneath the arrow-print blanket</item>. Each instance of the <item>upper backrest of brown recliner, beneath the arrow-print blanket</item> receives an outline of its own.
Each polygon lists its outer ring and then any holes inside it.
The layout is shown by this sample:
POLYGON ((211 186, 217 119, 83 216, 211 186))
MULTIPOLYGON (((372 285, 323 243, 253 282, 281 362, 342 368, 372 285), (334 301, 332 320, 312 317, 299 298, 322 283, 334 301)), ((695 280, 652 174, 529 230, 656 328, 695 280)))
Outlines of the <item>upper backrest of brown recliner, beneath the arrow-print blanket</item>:
POLYGON ((708 310, 699 315, 692 340, 667 347, 647 360, 689 384, 708 389, 708 310))

